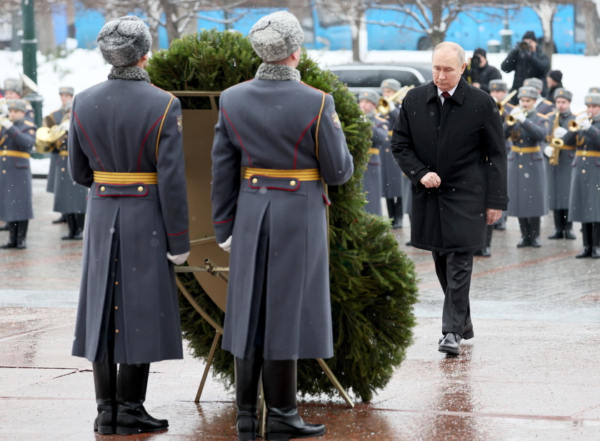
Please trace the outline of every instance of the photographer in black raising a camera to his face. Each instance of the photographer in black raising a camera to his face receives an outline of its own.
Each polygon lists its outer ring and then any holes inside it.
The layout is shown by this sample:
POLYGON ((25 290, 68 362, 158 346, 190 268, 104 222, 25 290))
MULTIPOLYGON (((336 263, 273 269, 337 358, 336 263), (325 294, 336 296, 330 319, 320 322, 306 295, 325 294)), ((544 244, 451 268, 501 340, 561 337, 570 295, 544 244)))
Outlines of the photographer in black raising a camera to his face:
MULTIPOLYGON (((541 79, 543 83, 541 96, 546 96, 548 86, 545 79, 546 72, 550 69, 550 60, 538 47, 534 31, 526 31, 523 41, 519 41, 514 46, 500 67, 506 73, 514 71, 511 91, 518 90, 523 85, 524 79, 535 77, 541 79)), ((518 101, 514 96, 511 104, 517 104, 518 101)))

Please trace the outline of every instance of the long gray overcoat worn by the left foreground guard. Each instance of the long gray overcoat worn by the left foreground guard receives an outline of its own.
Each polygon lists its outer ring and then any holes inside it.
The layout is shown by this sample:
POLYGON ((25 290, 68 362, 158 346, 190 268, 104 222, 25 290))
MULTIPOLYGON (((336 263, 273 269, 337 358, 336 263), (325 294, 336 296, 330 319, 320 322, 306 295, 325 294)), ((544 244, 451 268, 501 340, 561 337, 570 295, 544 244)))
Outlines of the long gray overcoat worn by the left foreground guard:
POLYGON ((116 363, 181 358, 166 258, 189 251, 179 100, 143 80, 109 79, 77 94, 72 112, 69 169, 90 188, 73 355, 102 360, 114 337, 116 363), (94 172, 156 173, 158 184, 94 182, 94 172))

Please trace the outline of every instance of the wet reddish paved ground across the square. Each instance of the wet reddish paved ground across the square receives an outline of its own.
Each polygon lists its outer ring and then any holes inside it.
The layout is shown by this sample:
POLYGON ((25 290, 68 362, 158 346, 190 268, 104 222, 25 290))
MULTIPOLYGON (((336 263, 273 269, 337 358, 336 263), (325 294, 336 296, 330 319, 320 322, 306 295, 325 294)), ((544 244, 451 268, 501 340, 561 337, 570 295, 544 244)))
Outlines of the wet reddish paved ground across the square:
MULTIPOLYGON (((194 397, 204 363, 151 365, 146 409, 169 419, 166 432, 130 437, 95 435, 91 364, 71 357, 81 242, 64 241, 51 224, 52 197, 34 179, 36 219, 28 247, 0 250, 0 440, 236 440, 231 390, 211 376, 194 397)), ((494 232, 492 257, 477 257, 471 285, 475 338, 459 357, 437 352, 442 293, 431 254, 404 242, 421 282, 414 344, 389 385, 370 403, 346 407, 314 397, 304 419, 324 422, 323 441, 600 440, 600 259, 575 259, 578 239, 517 249, 509 218, 494 232)), ((7 233, 0 233, 6 242, 7 233)))

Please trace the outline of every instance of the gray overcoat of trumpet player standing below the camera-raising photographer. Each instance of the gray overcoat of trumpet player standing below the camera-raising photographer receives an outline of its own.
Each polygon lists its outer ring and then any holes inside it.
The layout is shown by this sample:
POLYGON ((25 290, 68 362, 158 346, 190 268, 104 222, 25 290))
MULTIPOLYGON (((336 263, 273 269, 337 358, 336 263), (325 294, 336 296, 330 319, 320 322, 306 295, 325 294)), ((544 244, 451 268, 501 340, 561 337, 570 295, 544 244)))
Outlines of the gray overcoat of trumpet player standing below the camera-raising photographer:
POLYGON ((512 127, 504 123, 504 135, 513 141, 512 149, 539 147, 538 152, 509 153, 509 209, 516 217, 541 217, 548 213, 546 161, 541 142, 548 134, 548 119, 542 114, 527 115, 524 123, 512 127))

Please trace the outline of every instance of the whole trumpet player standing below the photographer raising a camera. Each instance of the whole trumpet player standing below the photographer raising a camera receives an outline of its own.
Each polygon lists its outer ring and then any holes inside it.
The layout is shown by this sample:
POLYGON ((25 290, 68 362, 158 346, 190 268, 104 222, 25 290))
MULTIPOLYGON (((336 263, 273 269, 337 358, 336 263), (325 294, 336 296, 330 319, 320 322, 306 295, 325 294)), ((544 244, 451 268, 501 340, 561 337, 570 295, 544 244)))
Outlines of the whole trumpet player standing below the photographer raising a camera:
POLYGON ((548 212, 548 188, 540 143, 546 139, 548 120, 536 113, 537 89, 520 87, 518 96, 520 106, 504 122, 504 136, 513 143, 508 157, 508 215, 519 218, 521 240, 517 247, 541 247, 540 218, 548 212))

